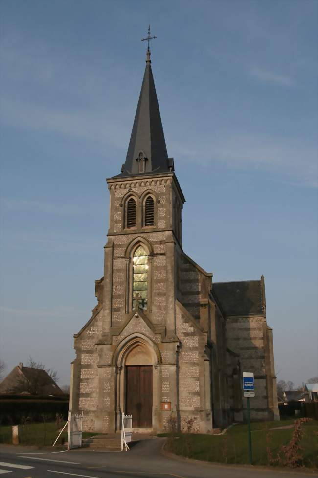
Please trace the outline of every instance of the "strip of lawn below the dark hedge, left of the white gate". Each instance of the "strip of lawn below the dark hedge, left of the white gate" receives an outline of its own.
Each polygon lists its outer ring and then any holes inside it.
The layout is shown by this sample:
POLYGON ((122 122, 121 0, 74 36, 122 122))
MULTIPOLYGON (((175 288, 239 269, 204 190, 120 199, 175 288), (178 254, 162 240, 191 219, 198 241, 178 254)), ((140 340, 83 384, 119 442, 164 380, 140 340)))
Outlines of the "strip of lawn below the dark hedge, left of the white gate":
MULTIPOLYGON (((65 422, 63 422, 59 428, 61 429, 64 425, 65 422)), ((59 431, 55 422, 19 425, 19 442, 21 445, 50 446, 53 445, 58 434, 59 431)), ((83 438, 88 438, 94 434, 95 433, 83 433, 83 438)), ((12 443, 12 427, 0 427, 0 443, 12 443)), ((62 433, 55 446, 62 445, 63 443, 68 443, 67 431, 62 433)))

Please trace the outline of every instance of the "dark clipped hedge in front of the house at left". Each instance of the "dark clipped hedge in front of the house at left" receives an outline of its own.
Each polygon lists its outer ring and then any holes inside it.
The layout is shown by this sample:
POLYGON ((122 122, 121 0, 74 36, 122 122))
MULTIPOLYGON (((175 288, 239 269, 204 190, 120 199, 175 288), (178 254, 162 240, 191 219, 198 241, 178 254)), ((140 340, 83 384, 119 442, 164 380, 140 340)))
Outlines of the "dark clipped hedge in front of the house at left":
POLYGON ((28 396, 27 399, 19 397, 17 399, 0 398, 0 424, 1 425, 19 425, 26 419, 31 422, 54 421, 56 414, 59 413, 64 419, 67 419, 69 409, 69 400, 54 398, 34 398, 28 396))

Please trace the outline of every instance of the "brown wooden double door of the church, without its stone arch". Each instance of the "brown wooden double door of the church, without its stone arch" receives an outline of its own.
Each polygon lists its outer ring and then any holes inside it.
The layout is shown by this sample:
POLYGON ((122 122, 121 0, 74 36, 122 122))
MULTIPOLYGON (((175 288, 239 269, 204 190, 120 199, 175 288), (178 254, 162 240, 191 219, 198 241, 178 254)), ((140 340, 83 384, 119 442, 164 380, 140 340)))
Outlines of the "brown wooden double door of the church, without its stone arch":
POLYGON ((126 366, 126 414, 133 428, 152 427, 152 365, 126 366))

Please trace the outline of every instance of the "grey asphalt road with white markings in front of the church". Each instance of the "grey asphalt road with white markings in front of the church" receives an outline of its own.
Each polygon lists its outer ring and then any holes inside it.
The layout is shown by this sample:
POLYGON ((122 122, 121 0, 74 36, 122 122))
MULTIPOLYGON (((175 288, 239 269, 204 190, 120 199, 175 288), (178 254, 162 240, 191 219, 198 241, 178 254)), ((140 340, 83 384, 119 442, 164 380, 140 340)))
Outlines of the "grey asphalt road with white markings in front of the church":
POLYGON ((308 478, 317 473, 223 466, 162 455, 164 438, 142 440, 128 452, 55 451, 1 446, 0 476, 8 478, 308 478))

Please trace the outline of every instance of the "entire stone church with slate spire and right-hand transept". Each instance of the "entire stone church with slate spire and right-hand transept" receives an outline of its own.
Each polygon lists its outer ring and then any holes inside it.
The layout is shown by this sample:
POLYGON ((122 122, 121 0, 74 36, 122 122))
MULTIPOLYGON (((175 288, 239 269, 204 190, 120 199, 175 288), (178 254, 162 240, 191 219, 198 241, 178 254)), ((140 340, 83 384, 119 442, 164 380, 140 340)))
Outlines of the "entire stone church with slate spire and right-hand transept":
POLYGON ((70 409, 83 411, 83 430, 119 431, 122 414, 151 433, 244 421, 246 371, 255 377, 251 418, 279 419, 264 277, 214 283, 183 252, 185 199, 167 154, 149 41, 126 161, 107 184, 104 276, 71 364, 70 409))

